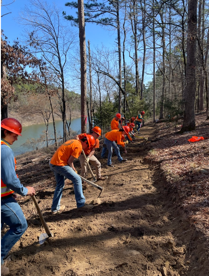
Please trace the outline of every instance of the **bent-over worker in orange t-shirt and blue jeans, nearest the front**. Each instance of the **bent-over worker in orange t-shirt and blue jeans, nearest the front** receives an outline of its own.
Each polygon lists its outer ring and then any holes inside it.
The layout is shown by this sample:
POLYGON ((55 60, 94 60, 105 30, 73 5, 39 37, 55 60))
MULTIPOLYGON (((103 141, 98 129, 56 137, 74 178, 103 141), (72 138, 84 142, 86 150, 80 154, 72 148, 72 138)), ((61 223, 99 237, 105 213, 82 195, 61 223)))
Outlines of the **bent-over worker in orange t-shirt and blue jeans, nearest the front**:
POLYGON ((54 172, 57 186, 51 205, 51 213, 55 215, 65 210, 65 205, 60 205, 60 200, 65 185, 65 178, 72 181, 75 193, 75 200, 78 210, 88 211, 94 207, 92 204, 85 204, 81 177, 73 165, 75 158, 78 158, 82 149, 91 148, 95 144, 92 135, 86 134, 81 140, 68 140, 61 145, 49 161, 50 169, 54 172))

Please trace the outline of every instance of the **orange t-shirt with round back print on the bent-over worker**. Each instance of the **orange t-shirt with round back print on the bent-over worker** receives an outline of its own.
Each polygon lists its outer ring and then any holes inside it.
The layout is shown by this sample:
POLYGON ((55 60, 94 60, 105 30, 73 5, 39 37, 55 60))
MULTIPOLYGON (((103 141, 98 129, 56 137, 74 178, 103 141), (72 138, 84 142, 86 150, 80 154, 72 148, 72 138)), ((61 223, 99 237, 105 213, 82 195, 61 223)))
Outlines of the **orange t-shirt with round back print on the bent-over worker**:
POLYGON ((51 158, 50 163, 56 166, 67 166, 67 161, 72 155, 78 158, 82 151, 80 140, 68 140, 60 146, 51 158))

